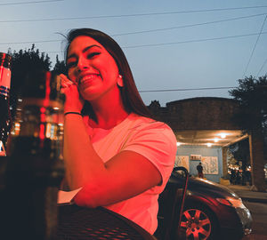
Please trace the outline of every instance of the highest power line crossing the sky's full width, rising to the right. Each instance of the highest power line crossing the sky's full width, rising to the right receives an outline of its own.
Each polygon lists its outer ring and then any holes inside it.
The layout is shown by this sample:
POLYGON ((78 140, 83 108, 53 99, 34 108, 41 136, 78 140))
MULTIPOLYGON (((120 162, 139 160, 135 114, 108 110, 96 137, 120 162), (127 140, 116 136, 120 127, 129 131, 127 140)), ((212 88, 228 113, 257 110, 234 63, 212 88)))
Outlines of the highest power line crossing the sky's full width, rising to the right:
MULTIPOLYGON (((63 1, 63 0, 58 0, 58 1, 63 1)), ((205 10, 191 10, 191 11, 177 11, 177 12, 149 12, 149 13, 134 13, 134 14, 121 14, 121 15, 103 15, 103 16, 91 16, 91 17, 69 17, 69 18, 54 18, 54 19, 35 19, 35 20, 1 20, 0 23, 26 22, 26 21, 48 21, 48 20, 85 20, 85 19, 125 18, 125 17, 141 17, 141 16, 153 16, 153 15, 195 13, 195 12, 231 11, 231 10, 266 8, 266 7, 267 5, 250 6, 250 7, 217 8, 217 9, 205 9, 205 10)))

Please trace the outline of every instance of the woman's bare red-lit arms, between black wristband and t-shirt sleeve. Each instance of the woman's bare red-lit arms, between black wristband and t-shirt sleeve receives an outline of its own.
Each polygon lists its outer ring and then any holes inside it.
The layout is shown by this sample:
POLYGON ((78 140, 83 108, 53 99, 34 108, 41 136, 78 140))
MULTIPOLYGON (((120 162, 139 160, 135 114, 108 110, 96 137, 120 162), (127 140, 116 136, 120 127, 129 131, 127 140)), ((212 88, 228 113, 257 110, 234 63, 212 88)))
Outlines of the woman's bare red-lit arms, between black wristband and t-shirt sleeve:
POLYGON ((78 115, 65 116, 64 160, 70 188, 84 187, 75 197, 79 205, 114 204, 161 182, 158 169, 134 151, 122 151, 104 164, 78 115))

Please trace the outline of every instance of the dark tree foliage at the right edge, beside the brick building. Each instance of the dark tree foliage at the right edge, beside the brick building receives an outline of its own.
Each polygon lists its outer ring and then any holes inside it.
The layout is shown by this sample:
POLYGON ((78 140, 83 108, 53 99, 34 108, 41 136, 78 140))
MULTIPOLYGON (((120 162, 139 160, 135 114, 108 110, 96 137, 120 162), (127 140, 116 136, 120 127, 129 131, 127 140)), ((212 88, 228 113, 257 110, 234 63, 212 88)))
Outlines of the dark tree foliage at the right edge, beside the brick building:
POLYGON ((239 87, 230 91, 231 96, 239 102, 239 112, 233 121, 244 132, 260 130, 264 140, 264 155, 267 155, 267 76, 256 79, 253 76, 239 79, 239 87))

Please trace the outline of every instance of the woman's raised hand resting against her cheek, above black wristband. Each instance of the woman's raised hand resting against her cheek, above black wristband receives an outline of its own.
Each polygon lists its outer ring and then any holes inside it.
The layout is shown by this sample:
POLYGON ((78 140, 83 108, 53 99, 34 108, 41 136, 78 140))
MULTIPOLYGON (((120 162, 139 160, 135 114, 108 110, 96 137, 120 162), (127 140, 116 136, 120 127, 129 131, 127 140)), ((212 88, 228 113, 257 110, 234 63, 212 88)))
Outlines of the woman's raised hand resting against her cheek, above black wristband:
POLYGON ((66 96, 64 112, 81 112, 85 104, 85 100, 82 99, 78 91, 77 83, 70 81, 69 78, 63 74, 61 74, 60 77, 61 92, 66 96))

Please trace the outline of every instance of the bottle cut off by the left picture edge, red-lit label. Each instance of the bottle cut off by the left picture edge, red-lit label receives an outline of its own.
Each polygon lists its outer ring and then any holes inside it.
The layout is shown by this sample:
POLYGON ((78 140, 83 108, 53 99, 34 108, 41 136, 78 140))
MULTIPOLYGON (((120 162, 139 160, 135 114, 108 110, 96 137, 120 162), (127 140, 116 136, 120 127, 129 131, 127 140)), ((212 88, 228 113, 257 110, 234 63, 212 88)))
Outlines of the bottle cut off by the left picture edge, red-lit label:
POLYGON ((11 129, 9 107, 11 60, 9 54, 0 52, 0 156, 5 156, 6 141, 11 129))

